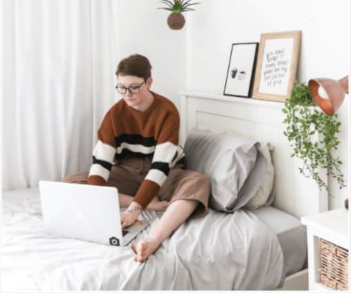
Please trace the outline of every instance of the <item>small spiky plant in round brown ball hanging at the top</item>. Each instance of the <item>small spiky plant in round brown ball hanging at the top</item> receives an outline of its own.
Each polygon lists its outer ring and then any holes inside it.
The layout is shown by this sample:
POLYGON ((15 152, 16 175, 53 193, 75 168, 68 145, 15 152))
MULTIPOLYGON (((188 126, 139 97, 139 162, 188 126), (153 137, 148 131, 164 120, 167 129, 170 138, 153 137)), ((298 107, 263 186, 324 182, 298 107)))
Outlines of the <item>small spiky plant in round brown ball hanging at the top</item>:
POLYGON ((190 3, 192 0, 162 0, 161 3, 166 4, 167 7, 161 7, 157 9, 169 10, 172 13, 168 16, 167 23, 172 30, 181 30, 185 24, 185 18, 182 12, 194 10, 190 6, 197 5, 197 3, 190 3))

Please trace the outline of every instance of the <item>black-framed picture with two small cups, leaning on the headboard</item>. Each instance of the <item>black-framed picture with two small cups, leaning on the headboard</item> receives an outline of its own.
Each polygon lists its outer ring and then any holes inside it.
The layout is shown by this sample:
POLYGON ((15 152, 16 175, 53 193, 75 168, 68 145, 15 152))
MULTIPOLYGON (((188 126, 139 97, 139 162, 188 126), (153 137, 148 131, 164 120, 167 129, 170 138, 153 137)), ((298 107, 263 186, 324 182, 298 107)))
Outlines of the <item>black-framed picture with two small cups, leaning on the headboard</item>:
POLYGON ((225 79, 226 96, 250 98, 259 43, 233 43, 225 79))

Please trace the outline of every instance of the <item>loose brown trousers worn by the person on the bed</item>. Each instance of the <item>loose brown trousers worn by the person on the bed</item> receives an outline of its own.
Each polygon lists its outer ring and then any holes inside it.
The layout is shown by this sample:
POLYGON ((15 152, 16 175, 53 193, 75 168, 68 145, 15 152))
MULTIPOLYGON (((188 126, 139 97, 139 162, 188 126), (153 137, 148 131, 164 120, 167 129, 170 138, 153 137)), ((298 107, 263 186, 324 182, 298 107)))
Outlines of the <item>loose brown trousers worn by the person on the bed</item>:
MULTIPOLYGON (((134 196, 148 174, 152 156, 145 158, 128 157, 117 165, 113 165, 107 185, 116 187, 119 192, 134 196)), ((88 172, 72 174, 62 182, 88 184, 88 172)), ((192 199, 199 204, 190 218, 199 218, 208 212, 210 196, 210 180, 207 176, 192 170, 185 170, 183 163, 177 163, 170 170, 166 181, 161 186, 157 197, 169 204, 178 199, 192 199)))

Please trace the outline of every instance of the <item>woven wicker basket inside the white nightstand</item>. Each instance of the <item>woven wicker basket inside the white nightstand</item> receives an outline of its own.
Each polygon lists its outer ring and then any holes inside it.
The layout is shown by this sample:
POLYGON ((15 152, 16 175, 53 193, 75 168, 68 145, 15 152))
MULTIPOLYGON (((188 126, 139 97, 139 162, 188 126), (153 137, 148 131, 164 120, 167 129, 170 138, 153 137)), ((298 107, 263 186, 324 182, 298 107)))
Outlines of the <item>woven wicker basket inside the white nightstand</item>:
POLYGON ((321 239, 321 283, 334 290, 348 290, 348 250, 321 239))

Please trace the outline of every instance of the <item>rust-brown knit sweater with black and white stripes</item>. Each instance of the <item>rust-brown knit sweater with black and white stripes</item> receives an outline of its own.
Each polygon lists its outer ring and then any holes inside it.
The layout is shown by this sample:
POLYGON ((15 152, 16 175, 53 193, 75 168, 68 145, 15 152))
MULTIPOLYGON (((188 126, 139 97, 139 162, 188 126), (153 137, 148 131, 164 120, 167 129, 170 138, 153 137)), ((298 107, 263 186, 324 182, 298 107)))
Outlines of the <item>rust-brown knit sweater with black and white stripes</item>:
POLYGON ((97 132, 88 184, 106 185, 114 163, 127 155, 152 155, 152 165, 133 201, 143 209, 157 195, 170 169, 185 154, 179 145, 179 113, 172 101, 152 92, 154 101, 139 112, 121 99, 106 113, 97 132))

